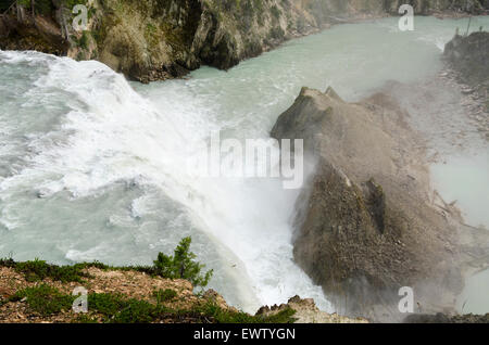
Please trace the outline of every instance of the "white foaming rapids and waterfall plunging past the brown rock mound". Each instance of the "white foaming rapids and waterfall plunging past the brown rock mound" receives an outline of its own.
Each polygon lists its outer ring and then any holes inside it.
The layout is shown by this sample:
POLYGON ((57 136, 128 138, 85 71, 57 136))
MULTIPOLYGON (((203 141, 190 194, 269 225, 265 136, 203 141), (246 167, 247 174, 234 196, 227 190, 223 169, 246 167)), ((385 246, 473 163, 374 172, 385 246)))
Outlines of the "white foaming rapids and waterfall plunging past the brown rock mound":
MULTIPOLYGON (((292 263, 296 194, 280 181, 187 177, 186 157, 216 128, 208 113, 156 110, 98 62, 13 52, 1 59, 40 72, 24 93, 30 115, 61 108, 46 131, 17 137, 12 125, 4 133, 25 142, 16 155, 24 162, 12 162, 0 184, 7 239, 27 237, 14 257, 141 264, 191 234, 220 291, 247 309, 294 291, 323 299, 292 263)), ((2 241, 2 251, 10 248, 2 241)))

